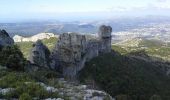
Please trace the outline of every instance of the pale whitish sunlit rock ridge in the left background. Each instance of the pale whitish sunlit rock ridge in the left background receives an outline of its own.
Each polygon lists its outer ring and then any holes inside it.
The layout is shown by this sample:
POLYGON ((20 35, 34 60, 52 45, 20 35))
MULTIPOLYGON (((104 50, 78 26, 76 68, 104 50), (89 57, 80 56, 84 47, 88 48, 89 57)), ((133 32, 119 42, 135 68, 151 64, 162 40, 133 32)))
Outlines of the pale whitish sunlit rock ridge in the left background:
POLYGON ((55 35, 53 33, 39 33, 31 37, 15 35, 13 39, 15 42, 36 42, 37 40, 49 39, 51 37, 58 37, 58 35, 55 35))

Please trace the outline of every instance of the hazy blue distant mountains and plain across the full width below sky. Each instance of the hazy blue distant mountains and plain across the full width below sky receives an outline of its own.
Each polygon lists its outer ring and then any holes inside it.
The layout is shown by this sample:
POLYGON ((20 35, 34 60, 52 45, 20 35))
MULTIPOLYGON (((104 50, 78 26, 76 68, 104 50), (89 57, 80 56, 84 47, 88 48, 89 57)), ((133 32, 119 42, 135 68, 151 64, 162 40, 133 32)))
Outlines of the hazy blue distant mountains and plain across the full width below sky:
POLYGON ((169 17, 142 17, 142 18, 117 18, 100 21, 37 21, 22 23, 0 23, 0 29, 5 29, 13 37, 14 35, 32 36, 38 33, 62 34, 64 32, 77 32, 82 34, 94 34, 102 24, 113 28, 113 38, 124 40, 128 38, 144 37, 158 38, 169 41, 170 35, 169 17))

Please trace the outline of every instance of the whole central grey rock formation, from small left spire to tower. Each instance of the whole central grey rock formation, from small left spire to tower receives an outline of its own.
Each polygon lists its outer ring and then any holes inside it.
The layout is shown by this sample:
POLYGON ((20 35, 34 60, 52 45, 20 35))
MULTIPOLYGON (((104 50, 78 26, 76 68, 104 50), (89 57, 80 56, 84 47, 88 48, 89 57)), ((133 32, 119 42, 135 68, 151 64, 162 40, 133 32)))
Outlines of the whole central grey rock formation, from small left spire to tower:
POLYGON ((63 33, 51 55, 49 50, 37 41, 31 51, 30 62, 48 66, 60 71, 65 77, 74 79, 85 62, 101 53, 111 52, 111 32, 110 26, 103 25, 99 28, 98 37, 88 38, 89 36, 77 33, 63 33))

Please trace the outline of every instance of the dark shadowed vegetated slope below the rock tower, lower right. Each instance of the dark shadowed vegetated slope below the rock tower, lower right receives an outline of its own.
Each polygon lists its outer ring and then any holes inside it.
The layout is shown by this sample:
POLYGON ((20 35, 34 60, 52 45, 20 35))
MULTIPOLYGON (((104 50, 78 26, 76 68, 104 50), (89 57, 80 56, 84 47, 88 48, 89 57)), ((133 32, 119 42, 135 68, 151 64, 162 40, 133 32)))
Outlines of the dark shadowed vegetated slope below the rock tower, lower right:
POLYGON ((85 83, 94 80, 114 97, 149 100, 156 94, 170 100, 170 78, 161 70, 163 66, 112 52, 87 62, 79 79, 85 83))

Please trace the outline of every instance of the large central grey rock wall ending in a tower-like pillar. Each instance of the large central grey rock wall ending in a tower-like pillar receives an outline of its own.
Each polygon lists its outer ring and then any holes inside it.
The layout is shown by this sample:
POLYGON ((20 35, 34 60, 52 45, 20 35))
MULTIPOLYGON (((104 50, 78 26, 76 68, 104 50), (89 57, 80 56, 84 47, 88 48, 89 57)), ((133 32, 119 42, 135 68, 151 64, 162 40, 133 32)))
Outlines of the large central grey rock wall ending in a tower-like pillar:
POLYGON ((74 78, 85 62, 100 53, 111 51, 111 32, 110 26, 103 25, 95 39, 87 39, 85 35, 77 33, 61 34, 52 53, 55 62, 53 68, 60 69, 66 77, 74 78))

